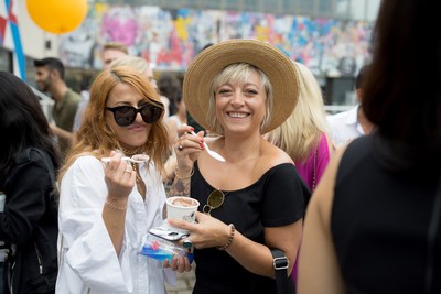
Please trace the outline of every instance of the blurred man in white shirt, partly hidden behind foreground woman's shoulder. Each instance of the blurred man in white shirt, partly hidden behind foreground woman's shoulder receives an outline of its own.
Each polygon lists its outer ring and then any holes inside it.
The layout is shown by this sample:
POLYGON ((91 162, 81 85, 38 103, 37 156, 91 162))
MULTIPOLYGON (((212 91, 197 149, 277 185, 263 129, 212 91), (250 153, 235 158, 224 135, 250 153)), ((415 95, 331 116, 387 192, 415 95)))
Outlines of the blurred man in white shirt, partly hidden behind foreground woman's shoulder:
POLYGON ((363 66, 355 78, 355 94, 358 104, 347 111, 327 117, 331 127, 331 141, 336 148, 351 142, 355 138, 368 134, 374 129, 374 124, 366 118, 361 105, 363 79, 368 68, 368 65, 363 66))

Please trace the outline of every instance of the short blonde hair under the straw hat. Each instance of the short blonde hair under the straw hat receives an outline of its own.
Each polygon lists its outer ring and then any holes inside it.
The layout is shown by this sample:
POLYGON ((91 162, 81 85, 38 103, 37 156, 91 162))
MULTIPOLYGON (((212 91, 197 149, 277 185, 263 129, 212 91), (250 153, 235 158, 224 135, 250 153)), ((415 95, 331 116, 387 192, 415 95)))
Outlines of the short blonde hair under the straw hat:
POLYGON ((207 111, 207 123, 208 129, 217 134, 224 134, 224 128, 218 122, 216 118, 216 107, 215 107, 215 91, 218 87, 226 85, 228 83, 232 84, 245 84, 249 79, 249 75, 251 70, 256 72, 259 75, 261 85, 267 95, 265 100, 265 117, 262 122, 260 123, 260 130, 263 130, 271 122, 271 113, 272 113, 272 105, 273 105, 273 95, 272 95, 272 86, 269 81, 268 77, 265 75, 262 70, 258 67, 247 64, 247 63, 235 63, 225 67, 220 73, 218 73, 212 81, 212 87, 209 90, 208 97, 208 111, 207 111))

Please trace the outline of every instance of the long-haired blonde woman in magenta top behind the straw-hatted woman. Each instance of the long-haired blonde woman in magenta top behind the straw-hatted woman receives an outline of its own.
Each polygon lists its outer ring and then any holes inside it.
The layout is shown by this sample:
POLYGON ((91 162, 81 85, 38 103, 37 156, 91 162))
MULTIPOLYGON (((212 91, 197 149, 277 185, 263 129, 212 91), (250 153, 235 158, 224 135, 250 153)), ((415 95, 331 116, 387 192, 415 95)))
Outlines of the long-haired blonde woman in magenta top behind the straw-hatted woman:
POLYGON ((291 156, 299 175, 313 192, 333 148, 319 83, 306 66, 295 63, 295 67, 300 77, 298 105, 284 123, 266 137, 291 156))

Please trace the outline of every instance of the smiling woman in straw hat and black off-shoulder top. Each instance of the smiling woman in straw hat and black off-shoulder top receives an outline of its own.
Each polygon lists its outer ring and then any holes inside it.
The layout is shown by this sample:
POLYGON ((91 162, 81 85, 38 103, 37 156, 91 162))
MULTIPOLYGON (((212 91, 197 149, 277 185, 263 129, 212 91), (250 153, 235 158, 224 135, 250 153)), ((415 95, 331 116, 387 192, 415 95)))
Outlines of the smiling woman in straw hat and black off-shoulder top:
POLYGON ((290 156, 262 134, 291 115, 298 85, 293 63, 259 41, 213 45, 190 65, 183 85, 187 110, 219 134, 208 141, 184 126, 175 143, 171 194, 201 203, 196 224, 169 220, 189 230, 195 247, 193 293, 276 293, 271 248, 284 253, 291 273, 310 192, 290 156), (209 156, 204 143, 225 162, 209 156))

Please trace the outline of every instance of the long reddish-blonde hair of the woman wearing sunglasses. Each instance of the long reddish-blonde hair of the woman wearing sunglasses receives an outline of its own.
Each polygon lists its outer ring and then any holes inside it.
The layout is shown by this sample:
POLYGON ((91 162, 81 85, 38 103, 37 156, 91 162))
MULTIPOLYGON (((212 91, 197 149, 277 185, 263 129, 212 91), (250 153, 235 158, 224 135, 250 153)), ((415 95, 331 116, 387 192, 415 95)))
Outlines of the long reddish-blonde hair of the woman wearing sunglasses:
MULTIPOLYGON (((107 99, 111 90, 121 83, 132 86, 146 97, 149 104, 163 109, 157 91, 150 86, 148 79, 136 69, 120 66, 101 72, 92 84, 89 102, 84 112, 83 123, 76 133, 76 143, 66 156, 58 179, 62 179, 68 167, 79 156, 88 154, 100 159, 108 156, 112 150, 122 150, 114 130, 106 123, 105 116, 107 99)), ((169 137, 161 117, 152 123, 147 142, 138 148, 136 153, 148 154, 155 167, 163 173, 162 159, 168 150, 169 137)))

